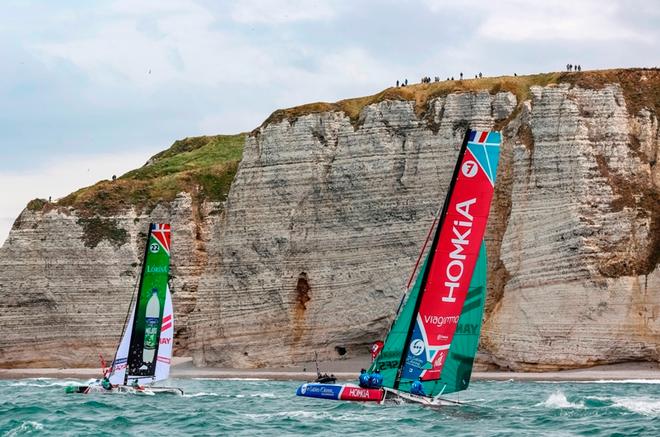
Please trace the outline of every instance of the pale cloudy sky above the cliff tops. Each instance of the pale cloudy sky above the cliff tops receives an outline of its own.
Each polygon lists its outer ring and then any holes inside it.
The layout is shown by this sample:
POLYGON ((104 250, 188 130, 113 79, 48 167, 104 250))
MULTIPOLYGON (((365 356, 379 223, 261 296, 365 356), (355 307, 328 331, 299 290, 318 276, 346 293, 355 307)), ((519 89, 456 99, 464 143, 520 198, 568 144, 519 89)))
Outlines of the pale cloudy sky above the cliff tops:
POLYGON ((178 138, 422 75, 657 66, 658 23, 657 0, 5 1, 0 242, 178 138))

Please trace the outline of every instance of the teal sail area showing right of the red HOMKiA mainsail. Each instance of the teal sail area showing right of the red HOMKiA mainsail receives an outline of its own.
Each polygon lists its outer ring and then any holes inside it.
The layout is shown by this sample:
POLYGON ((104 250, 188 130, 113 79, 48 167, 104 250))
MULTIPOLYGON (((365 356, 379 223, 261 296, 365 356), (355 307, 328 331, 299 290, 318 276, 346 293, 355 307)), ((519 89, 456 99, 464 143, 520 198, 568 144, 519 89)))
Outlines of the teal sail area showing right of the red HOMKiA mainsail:
MULTIPOLYGON (((479 333, 486 303, 486 244, 481 243, 479 257, 474 267, 470 288, 458 319, 456 333, 449 346, 449 355, 440 379, 422 382, 427 396, 449 394, 465 390, 470 384, 472 365, 479 346, 479 333)), ((399 390, 410 391, 411 380, 402 378, 399 390)))

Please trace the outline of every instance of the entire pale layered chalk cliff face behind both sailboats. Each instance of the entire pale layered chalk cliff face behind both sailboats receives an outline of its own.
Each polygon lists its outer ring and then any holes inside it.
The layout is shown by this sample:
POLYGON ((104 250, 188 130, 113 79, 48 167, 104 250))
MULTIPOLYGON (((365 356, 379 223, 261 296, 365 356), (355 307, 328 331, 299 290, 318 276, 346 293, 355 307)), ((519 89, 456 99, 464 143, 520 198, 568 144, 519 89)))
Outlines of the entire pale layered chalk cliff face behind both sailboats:
MULTIPOLYGON (((87 192, 26 209, 0 249, 0 365, 111 353, 149 220, 173 223, 180 354, 259 367, 365 353, 391 322, 468 126, 504 135, 483 359, 660 359, 659 72, 516 80, 277 111, 245 140, 226 198, 201 196, 210 176, 188 175, 151 212, 91 214, 107 196, 87 192)), ((171 159, 197 153, 186 147, 171 159)))

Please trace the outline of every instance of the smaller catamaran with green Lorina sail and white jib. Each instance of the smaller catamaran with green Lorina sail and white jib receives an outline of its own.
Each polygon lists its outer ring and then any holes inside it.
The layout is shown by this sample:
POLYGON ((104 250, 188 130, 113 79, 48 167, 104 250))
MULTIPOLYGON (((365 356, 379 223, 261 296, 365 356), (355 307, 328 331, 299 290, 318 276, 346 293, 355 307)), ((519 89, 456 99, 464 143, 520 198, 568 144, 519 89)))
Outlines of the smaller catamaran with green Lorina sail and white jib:
POLYGON ((174 393, 173 387, 154 387, 169 377, 174 339, 174 312, 169 288, 171 227, 149 225, 137 296, 131 302, 121 341, 103 380, 68 386, 67 393, 174 393))

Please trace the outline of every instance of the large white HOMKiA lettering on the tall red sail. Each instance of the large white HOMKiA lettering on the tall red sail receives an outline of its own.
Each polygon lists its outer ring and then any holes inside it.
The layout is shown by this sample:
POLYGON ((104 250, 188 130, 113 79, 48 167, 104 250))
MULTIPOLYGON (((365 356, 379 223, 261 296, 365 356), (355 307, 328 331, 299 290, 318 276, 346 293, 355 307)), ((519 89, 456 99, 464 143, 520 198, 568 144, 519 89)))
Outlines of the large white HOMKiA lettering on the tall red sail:
POLYGON ((470 214, 470 206, 474 205, 477 199, 465 200, 456 204, 456 212, 462 215, 466 220, 454 220, 452 226, 452 233, 455 238, 451 239, 451 244, 454 245, 454 251, 449 253, 449 263, 445 271, 445 287, 449 290, 446 296, 442 297, 443 302, 456 302, 454 297, 454 289, 460 285, 461 278, 463 277, 463 261, 465 254, 462 253, 465 246, 470 245, 468 237, 472 233, 472 222, 474 217, 470 214))

